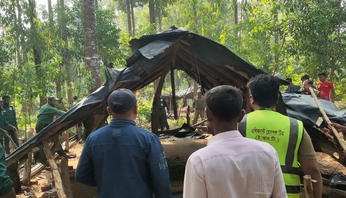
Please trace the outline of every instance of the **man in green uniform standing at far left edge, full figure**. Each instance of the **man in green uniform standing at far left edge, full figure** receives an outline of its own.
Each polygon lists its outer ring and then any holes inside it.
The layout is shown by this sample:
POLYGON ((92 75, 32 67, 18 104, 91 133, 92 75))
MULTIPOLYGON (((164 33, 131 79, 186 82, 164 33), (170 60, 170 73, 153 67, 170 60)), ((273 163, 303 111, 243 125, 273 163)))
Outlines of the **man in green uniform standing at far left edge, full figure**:
MULTIPOLYGON (((2 102, 3 102, 3 107, 2 107, 2 112, 5 121, 7 121, 10 125, 14 126, 18 130, 18 125, 17 125, 17 119, 16 119, 16 111, 14 110, 13 106, 9 104, 10 102, 10 97, 9 96, 3 96, 2 97, 2 102)), ((4 126, 4 130, 8 132, 8 135, 11 136, 14 144, 19 147, 19 142, 18 142, 18 135, 15 131, 13 131, 10 127, 4 126)), ((4 137, 5 140, 5 151, 6 154, 10 153, 10 148, 9 148, 9 138, 7 136, 4 137)))

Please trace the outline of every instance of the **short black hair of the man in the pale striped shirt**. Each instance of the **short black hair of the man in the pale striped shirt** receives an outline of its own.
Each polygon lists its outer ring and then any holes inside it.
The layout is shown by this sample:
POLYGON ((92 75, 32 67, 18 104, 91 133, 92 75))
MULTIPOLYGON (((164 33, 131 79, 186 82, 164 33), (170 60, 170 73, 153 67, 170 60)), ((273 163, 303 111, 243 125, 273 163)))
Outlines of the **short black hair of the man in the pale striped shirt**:
POLYGON ((206 105, 214 116, 230 121, 238 118, 242 110, 243 97, 238 88, 221 85, 207 92, 206 105))

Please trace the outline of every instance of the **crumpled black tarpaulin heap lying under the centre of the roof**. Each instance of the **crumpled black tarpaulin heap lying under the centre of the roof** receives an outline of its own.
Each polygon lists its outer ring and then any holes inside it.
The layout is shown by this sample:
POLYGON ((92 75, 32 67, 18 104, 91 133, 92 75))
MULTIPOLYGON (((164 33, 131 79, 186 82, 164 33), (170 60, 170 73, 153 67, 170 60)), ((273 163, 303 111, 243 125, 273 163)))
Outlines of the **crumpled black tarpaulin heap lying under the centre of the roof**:
POLYGON ((180 128, 181 130, 178 131, 172 138, 168 138, 165 141, 204 139, 209 136, 198 133, 198 129, 194 129, 186 123, 184 123, 180 128))

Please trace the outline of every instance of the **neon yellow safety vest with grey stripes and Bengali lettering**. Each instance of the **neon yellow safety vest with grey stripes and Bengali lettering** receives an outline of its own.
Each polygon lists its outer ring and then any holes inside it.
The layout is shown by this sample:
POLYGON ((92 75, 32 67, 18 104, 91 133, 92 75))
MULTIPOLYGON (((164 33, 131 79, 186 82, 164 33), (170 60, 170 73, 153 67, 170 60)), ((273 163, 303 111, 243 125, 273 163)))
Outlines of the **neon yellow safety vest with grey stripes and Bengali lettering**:
POLYGON ((298 149, 303 137, 303 123, 272 110, 258 110, 245 115, 238 130, 243 137, 266 142, 275 148, 287 196, 299 198, 298 149))

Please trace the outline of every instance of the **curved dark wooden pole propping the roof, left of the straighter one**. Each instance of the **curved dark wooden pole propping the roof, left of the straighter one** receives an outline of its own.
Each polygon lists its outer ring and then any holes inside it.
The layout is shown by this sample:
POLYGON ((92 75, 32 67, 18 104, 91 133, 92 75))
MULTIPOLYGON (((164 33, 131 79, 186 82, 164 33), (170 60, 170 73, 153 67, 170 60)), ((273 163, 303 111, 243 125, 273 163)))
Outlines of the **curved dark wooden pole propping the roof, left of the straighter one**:
POLYGON ((151 131, 156 135, 159 135, 158 130, 157 130, 157 127, 158 127, 157 102, 160 98, 162 88, 164 87, 165 77, 166 77, 166 74, 168 73, 168 71, 162 72, 161 77, 160 77, 160 81, 159 81, 159 85, 157 86, 157 89, 156 89, 156 92, 154 95, 154 99, 153 99, 153 108, 152 108, 152 112, 151 112, 151 131))

